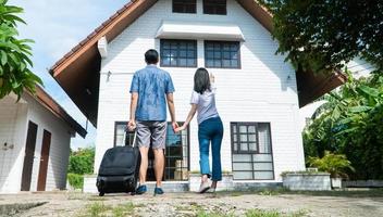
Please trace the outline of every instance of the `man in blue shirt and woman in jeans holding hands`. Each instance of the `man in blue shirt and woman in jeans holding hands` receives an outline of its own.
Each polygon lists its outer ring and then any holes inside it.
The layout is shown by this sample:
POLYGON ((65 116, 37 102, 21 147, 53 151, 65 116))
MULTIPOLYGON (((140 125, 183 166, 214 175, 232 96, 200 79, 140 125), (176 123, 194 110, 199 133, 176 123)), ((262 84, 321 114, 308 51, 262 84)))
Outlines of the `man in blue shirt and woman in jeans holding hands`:
POLYGON ((174 86, 170 74, 157 67, 159 54, 150 49, 145 53, 147 66, 134 74, 131 85, 131 119, 129 130, 136 130, 137 144, 141 155, 139 167, 139 187, 137 194, 147 192, 146 173, 148 152, 151 145, 155 153, 156 188, 155 194, 163 194, 161 187, 164 169, 164 149, 166 137, 166 102, 175 132, 186 129, 197 113, 199 164, 201 173, 200 193, 214 192, 217 182, 222 180, 221 143, 223 125, 215 107, 214 77, 206 68, 198 68, 194 76, 190 112, 183 126, 175 119, 173 92, 174 86), (212 150, 212 169, 209 165, 209 145, 212 150), (212 182, 209 183, 209 178, 212 182))

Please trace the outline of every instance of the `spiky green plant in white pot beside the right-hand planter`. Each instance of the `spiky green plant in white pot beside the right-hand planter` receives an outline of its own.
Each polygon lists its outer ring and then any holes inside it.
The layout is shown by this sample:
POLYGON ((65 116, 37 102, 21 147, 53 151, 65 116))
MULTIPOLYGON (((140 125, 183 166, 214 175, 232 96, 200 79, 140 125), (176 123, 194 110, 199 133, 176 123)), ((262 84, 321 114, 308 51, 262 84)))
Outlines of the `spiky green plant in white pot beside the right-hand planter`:
POLYGON ((317 167, 320 171, 326 171, 331 177, 332 188, 342 188, 342 178, 348 178, 346 170, 354 171, 351 163, 344 154, 334 154, 329 151, 324 152, 324 156, 309 157, 310 166, 317 167))

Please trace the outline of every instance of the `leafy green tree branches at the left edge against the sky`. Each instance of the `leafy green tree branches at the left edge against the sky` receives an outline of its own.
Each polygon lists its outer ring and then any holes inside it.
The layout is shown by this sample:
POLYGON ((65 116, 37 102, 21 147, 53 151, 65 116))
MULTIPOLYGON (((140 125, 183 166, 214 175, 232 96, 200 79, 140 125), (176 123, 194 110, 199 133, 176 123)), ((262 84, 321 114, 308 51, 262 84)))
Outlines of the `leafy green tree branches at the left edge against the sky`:
POLYGON ((17 23, 25 22, 16 14, 23 9, 8 5, 8 0, 0 0, 0 99, 14 92, 18 99, 24 90, 35 92, 37 84, 42 81, 29 67, 33 40, 17 39, 17 23))

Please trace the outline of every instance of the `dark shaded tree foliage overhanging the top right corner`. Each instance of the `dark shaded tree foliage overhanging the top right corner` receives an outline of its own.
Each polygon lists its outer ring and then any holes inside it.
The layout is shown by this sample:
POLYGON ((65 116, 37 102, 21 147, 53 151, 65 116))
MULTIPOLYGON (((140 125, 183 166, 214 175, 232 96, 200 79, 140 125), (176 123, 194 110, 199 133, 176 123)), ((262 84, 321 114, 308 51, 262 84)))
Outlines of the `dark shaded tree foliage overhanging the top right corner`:
POLYGON ((354 58, 383 69, 383 1, 259 0, 273 14, 277 53, 298 69, 328 73, 354 58))

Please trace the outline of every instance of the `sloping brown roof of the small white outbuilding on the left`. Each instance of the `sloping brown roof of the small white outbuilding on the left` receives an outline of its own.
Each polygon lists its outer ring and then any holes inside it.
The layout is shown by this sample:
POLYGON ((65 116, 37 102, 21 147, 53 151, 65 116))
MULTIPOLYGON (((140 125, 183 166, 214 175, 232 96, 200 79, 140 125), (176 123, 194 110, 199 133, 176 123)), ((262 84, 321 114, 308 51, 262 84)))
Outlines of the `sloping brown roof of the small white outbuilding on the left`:
POLYGON ((54 116, 65 122, 74 131, 76 131, 83 138, 88 133, 76 120, 69 115, 65 110, 55 102, 41 87, 36 86, 36 93, 33 94, 27 92, 38 103, 49 110, 54 116))

